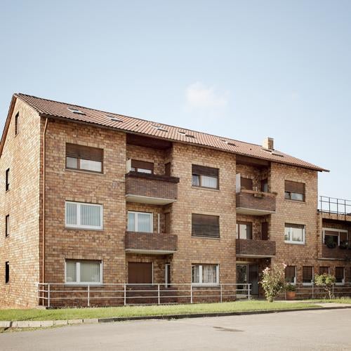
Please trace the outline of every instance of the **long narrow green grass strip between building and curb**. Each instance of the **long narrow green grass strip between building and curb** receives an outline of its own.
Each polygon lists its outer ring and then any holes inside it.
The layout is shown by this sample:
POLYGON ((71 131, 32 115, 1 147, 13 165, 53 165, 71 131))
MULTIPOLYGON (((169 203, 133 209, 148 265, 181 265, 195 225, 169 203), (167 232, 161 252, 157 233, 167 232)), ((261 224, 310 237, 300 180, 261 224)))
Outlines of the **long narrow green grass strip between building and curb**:
POLYGON ((0 310, 0 320, 51 320, 87 319, 103 317, 155 316, 166 314, 192 314, 215 312, 244 312, 260 310, 291 310, 295 308, 317 307, 313 303, 283 303, 267 301, 235 301, 232 303, 199 303, 194 305, 152 305, 102 308, 65 308, 58 310, 0 310))

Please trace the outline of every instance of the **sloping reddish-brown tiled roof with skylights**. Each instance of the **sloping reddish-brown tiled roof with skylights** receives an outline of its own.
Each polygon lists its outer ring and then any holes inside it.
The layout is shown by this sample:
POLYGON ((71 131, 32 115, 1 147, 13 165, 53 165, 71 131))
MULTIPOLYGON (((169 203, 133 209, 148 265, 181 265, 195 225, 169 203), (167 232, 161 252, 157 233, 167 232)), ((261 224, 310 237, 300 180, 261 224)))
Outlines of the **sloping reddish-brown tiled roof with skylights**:
POLYGON ((278 152, 277 150, 274 150, 273 152, 264 150, 261 145, 244 143, 239 140, 232 140, 230 138, 201 133, 198 131, 191 131, 189 129, 176 126, 168 126, 167 124, 160 124, 153 121, 145 121, 144 119, 127 117, 121 114, 94 110, 88 107, 72 105, 65 102, 37 98, 35 96, 25 95, 22 93, 15 94, 14 96, 15 98, 20 98, 20 100, 27 102, 27 104, 32 106, 34 110, 41 114, 41 116, 45 117, 58 117, 89 124, 98 124, 100 126, 115 128, 118 131, 152 136, 155 138, 187 143, 190 145, 210 147, 216 150, 222 150, 234 154, 256 157, 267 161, 274 161, 280 164, 291 164, 303 168, 310 168, 315 171, 327 171, 324 168, 320 168, 314 164, 310 164, 288 154, 278 152), (72 110, 69 110, 69 107, 79 110, 81 114, 72 112, 72 110), (120 121, 114 121, 111 119, 111 117, 114 117, 120 121))

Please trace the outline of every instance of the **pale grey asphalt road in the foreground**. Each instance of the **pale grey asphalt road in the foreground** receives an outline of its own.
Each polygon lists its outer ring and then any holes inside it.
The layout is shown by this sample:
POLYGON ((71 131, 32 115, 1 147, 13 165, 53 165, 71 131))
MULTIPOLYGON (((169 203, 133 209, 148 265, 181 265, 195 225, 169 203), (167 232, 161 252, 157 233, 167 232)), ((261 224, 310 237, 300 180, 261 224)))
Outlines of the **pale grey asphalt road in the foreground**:
POLYGON ((0 350, 351 350, 351 309, 19 331, 0 350))

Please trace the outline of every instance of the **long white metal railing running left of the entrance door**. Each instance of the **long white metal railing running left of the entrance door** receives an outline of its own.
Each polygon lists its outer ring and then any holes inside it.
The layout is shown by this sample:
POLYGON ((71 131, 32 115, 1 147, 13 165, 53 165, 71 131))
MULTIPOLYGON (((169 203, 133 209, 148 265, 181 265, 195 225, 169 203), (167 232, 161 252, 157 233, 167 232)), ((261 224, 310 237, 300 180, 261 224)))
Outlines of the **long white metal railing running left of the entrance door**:
POLYGON ((251 299, 251 284, 88 284, 37 283, 39 305, 164 305, 251 299))

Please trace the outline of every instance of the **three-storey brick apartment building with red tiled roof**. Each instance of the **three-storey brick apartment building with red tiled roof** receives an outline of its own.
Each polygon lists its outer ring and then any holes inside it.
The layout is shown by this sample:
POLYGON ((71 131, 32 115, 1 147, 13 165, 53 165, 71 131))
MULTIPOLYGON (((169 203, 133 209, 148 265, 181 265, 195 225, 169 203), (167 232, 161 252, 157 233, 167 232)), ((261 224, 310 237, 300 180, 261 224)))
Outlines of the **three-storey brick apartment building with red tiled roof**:
POLYGON ((37 282, 237 282, 258 296, 260 272, 282 263, 293 283, 319 272, 350 282, 351 209, 338 200, 331 211, 326 198, 318 211, 326 170, 271 138, 254 145, 19 93, 0 153, 0 307, 38 305, 37 282))

